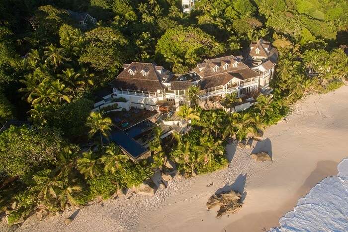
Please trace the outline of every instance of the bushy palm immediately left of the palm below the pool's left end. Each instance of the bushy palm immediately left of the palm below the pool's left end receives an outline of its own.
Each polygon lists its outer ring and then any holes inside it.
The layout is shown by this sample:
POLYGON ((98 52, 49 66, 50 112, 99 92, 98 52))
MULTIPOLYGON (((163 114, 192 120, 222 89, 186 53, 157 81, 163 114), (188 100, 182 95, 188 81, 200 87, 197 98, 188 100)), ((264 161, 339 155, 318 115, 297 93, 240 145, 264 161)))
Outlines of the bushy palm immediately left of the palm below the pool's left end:
POLYGON ((78 158, 78 169, 81 174, 85 175, 85 179, 93 178, 99 173, 98 159, 91 150, 82 155, 81 158, 78 158))

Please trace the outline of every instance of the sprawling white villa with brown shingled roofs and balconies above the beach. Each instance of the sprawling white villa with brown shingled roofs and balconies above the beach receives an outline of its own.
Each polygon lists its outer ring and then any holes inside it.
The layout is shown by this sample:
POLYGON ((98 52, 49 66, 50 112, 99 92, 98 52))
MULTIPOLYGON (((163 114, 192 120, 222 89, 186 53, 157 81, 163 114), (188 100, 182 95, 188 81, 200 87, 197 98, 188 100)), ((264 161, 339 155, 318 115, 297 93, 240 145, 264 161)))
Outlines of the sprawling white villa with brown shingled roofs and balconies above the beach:
POLYGON ((126 110, 134 107, 168 113, 189 103, 191 85, 201 89, 198 95, 203 102, 216 101, 216 96, 221 99, 231 92, 238 92, 239 97, 269 92, 277 57, 277 50, 261 39, 253 41, 243 57, 230 55, 204 60, 182 76, 156 64, 132 62, 124 64, 122 73, 110 82, 111 98, 125 98, 127 102, 121 107, 126 110))

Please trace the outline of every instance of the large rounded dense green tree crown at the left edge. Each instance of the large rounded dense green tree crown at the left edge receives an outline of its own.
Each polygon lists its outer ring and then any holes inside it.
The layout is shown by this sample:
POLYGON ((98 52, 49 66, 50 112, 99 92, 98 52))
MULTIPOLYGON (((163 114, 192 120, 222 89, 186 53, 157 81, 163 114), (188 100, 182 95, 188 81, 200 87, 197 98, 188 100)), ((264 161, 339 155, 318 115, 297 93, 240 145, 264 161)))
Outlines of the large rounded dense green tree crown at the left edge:
POLYGON ((10 126, 0 134, 0 172, 27 177, 52 165, 65 145, 57 129, 10 126))

